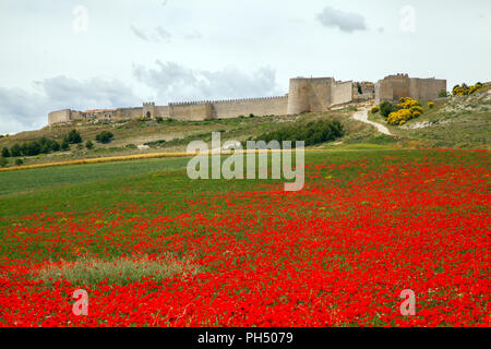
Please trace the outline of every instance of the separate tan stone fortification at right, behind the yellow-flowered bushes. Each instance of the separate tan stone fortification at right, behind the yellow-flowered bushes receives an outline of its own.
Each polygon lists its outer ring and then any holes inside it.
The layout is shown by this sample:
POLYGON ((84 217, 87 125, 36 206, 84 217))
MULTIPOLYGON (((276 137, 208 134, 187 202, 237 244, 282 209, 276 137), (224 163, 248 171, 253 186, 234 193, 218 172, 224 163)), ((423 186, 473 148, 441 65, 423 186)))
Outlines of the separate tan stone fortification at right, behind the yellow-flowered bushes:
POLYGON ((446 92, 446 80, 409 77, 408 74, 390 75, 375 85, 375 103, 412 99, 435 99, 440 92, 446 92))

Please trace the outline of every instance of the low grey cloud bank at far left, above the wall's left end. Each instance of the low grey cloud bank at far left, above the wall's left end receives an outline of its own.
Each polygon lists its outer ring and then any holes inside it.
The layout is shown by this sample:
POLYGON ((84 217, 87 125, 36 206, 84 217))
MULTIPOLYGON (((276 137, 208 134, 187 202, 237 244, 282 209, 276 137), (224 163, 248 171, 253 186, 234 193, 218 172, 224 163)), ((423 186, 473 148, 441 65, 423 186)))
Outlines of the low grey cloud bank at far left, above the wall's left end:
POLYGON ((57 76, 35 83, 38 92, 0 87, 0 133, 35 130, 48 123, 59 109, 86 110, 137 106, 142 99, 117 80, 77 81, 57 76))

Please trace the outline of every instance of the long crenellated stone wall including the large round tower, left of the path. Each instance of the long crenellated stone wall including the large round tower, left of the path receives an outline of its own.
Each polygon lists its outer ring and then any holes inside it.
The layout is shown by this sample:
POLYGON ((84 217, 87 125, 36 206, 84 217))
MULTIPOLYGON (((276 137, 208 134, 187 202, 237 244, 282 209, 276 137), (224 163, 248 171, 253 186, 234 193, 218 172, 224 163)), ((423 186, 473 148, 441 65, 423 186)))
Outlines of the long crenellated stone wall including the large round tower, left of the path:
POLYGON ((49 113, 49 125, 73 121, 128 119, 172 119, 180 121, 201 121, 208 119, 231 119, 254 115, 284 116, 302 112, 322 112, 334 105, 354 100, 352 82, 337 82, 334 77, 306 79, 290 81, 290 93, 285 96, 246 98, 227 100, 205 100, 170 103, 156 106, 144 103, 141 108, 96 109, 87 111, 60 110, 49 113))

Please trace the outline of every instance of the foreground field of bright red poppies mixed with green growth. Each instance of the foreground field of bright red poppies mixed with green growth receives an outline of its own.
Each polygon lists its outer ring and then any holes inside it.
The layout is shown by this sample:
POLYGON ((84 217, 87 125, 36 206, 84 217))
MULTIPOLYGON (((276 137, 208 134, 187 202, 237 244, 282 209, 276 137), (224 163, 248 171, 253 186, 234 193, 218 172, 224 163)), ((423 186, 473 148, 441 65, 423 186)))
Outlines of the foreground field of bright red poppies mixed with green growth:
POLYGON ((490 325, 489 152, 306 160, 294 193, 164 169, 0 196, 0 326, 490 325))

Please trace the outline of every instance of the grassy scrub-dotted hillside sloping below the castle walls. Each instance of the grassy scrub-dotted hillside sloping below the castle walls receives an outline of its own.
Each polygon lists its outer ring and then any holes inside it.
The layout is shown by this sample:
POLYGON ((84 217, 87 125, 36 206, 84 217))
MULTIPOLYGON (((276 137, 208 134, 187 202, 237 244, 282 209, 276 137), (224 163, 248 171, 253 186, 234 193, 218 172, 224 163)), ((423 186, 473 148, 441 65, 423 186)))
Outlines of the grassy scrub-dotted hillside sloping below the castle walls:
MULTIPOLYGON (((387 125, 394 136, 379 133, 375 128, 352 119, 356 110, 368 108, 370 104, 349 104, 338 110, 300 116, 253 117, 207 121, 128 120, 118 123, 76 123, 44 128, 38 131, 22 132, 0 139, 0 149, 14 144, 35 141, 41 137, 61 142, 73 129, 84 141, 83 145, 71 145, 69 151, 38 156, 22 156, 24 165, 69 161, 83 158, 99 158, 135 154, 184 152, 194 140, 209 141, 212 132, 221 132, 223 142, 244 141, 285 127, 302 128, 319 119, 338 120, 346 134, 335 142, 318 145, 315 148, 490 148, 491 130, 491 86, 487 84, 472 96, 444 98, 435 101, 430 109, 422 101, 424 112, 404 127, 387 125), (101 131, 113 133, 113 141, 100 144, 95 141, 101 131), (86 141, 95 145, 87 149, 86 141)), ((369 120, 386 125, 380 115, 370 115, 369 120)), ((9 158, 8 166, 14 166, 16 158, 9 158)))

